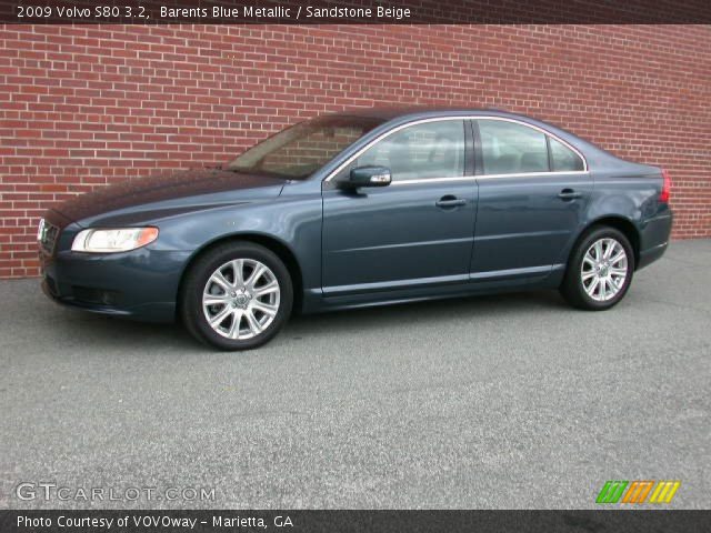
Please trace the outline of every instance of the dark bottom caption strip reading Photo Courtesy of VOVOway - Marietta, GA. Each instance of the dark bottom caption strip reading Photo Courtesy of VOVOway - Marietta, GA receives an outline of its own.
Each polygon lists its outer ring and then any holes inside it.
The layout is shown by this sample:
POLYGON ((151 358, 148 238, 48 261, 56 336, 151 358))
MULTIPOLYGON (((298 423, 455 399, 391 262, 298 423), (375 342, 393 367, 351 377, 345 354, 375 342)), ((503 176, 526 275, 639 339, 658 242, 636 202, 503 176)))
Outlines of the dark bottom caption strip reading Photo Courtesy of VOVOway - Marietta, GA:
POLYGON ((705 533, 709 531, 710 523, 711 511, 0 511, 0 531, 3 533, 112 531, 140 533, 183 531, 705 533), (291 526, 283 525, 287 516, 291 526), (84 525, 61 526, 61 521, 76 523, 81 520, 93 520, 94 524, 84 522, 84 525), (111 520, 110 527, 107 527, 109 520, 111 520), (121 526, 119 521, 123 520, 128 524, 121 526), (232 523, 231 520, 237 522, 232 523), (44 526, 40 525, 42 521, 44 526), (47 525, 48 522, 51 522, 51 525, 47 525), (30 523, 32 525, 28 525, 30 523), (194 526, 180 525, 190 523, 194 526), (230 525, 226 525, 228 523, 230 525), (278 526, 278 523, 282 526, 278 526))

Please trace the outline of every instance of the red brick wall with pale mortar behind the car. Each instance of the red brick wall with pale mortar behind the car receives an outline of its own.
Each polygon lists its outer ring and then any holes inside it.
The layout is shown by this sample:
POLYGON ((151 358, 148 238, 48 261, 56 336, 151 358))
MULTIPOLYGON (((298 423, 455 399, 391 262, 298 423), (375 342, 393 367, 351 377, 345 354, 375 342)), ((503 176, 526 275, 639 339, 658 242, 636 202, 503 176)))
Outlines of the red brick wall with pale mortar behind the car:
POLYGON ((353 105, 529 113, 674 180, 674 237, 711 237, 702 26, 0 26, 0 278, 37 274, 42 211, 229 160, 353 105))

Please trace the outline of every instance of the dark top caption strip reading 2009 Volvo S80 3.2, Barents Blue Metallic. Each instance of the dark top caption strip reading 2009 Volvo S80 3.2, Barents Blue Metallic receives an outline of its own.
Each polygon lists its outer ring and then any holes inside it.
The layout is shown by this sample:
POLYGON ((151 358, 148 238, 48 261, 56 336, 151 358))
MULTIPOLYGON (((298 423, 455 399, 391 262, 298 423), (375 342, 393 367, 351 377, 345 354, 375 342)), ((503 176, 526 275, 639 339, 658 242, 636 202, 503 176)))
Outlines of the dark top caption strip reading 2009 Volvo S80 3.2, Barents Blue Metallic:
POLYGON ((101 2, 0 0, 0 22, 39 24, 703 24, 711 22, 711 2, 709 0, 103 0, 101 2), (365 12, 368 14, 364 14, 365 12))

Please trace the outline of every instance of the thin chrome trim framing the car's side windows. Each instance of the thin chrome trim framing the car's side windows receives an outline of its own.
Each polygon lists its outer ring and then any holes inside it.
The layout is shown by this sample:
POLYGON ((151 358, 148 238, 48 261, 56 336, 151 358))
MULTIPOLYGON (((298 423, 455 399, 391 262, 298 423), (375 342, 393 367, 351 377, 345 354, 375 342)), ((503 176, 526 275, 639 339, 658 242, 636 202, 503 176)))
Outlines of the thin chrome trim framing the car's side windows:
POLYGON ((404 128, 410 128, 411 125, 418 125, 418 124, 424 124, 428 122, 442 122, 445 120, 500 120, 500 121, 504 121, 504 122, 514 122, 517 124, 521 124, 523 127, 527 128, 531 128, 533 130, 540 131, 541 133, 545 134, 545 135, 550 135, 551 138, 555 139, 558 142, 560 142, 561 144, 563 144, 564 147, 569 148, 570 150, 572 150, 580 159, 582 159, 582 164, 583 164, 583 170, 572 170, 572 171, 549 171, 549 172, 518 172, 518 173, 511 173, 511 174, 474 174, 474 175, 462 175, 462 177, 450 177, 450 178, 425 178, 422 180, 403 180, 403 181, 392 181, 392 183, 390 183, 390 185, 397 185, 397 184, 404 184, 404 183, 428 183, 431 181, 463 181, 463 180, 473 180, 473 179, 491 179, 491 178, 515 178, 515 177, 537 177, 537 175, 555 175, 555 174, 584 174, 590 172, 590 169, 588 167, 588 160, 585 159, 585 157, 580 152, 580 150, 578 150, 575 147, 573 147, 572 144, 570 144, 568 141, 561 139, 560 137, 558 137, 557 134, 540 128, 538 125, 534 124, 529 124, 528 122, 524 122, 522 120, 519 119, 511 119, 509 117, 491 117, 491 115, 460 115, 460 117, 432 117, 429 119, 419 119, 419 120, 413 120, 411 122, 405 122, 404 124, 400 124, 391 130, 388 130, 383 133, 381 133, 380 135, 378 135, 375 139, 373 139, 372 141, 370 141, 368 144, 365 144, 363 148, 361 148, 360 150, 358 150, 354 154, 352 154, 350 158, 348 158, 346 161, 343 161, 341 164, 339 164, 336 170, 331 171, 331 173, 329 175, 326 177, 326 179, 323 179, 323 183, 331 181, 341 170, 343 170, 346 167, 348 167, 349 164, 351 164, 353 162, 354 159, 359 158, 365 150, 369 150, 370 148, 372 148, 375 143, 380 142, 381 140, 390 137, 393 133, 397 133, 400 130, 403 130, 404 128))

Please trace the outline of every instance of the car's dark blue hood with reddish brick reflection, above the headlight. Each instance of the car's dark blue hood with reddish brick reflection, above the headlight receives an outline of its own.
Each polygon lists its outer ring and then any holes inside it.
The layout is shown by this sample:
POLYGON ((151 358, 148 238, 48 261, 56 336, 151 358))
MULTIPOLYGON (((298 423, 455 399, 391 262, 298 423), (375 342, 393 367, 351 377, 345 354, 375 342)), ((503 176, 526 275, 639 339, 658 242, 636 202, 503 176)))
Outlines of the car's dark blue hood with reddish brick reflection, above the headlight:
POLYGON ((277 197, 284 180, 226 170, 189 170, 103 187, 57 205, 71 221, 117 212, 180 211, 194 204, 227 204, 277 197))

